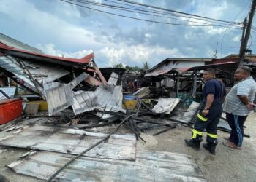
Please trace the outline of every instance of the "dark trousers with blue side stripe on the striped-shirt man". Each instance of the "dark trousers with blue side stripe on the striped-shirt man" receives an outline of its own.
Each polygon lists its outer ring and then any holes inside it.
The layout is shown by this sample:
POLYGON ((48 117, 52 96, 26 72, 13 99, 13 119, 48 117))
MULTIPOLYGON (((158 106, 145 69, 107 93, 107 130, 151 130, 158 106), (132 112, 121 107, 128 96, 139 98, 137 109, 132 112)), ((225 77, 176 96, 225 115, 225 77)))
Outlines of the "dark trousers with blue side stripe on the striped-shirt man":
POLYGON ((244 138, 244 122, 247 116, 238 116, 226 113, 226 119, 230 124, 230 141, 235 143, 237 146, 241 146, 244 138))

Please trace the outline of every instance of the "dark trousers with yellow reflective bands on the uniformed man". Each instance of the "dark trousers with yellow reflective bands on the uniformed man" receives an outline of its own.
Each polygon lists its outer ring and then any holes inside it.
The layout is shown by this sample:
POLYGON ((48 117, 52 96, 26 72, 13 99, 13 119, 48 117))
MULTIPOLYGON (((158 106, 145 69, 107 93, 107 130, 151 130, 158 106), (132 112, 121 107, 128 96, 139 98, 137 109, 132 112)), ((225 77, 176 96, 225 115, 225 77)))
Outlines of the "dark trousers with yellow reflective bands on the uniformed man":
POLYGON ((202 141, 201 137, 203 135, 203 130, 206 129, 207 137, 206 141, 208 143, 217 143, 217 124, 219 124, 219 119, 222 116, 222 101, 214 100, 209 109, 209 114, 205 116, 207 121, 198 119, 195 121, 193 136, 195 140, 199 139, 202 141), (198 135, 196 136, 195 133, 198 135), (202 134, 200 136, 200 134, 202 134))

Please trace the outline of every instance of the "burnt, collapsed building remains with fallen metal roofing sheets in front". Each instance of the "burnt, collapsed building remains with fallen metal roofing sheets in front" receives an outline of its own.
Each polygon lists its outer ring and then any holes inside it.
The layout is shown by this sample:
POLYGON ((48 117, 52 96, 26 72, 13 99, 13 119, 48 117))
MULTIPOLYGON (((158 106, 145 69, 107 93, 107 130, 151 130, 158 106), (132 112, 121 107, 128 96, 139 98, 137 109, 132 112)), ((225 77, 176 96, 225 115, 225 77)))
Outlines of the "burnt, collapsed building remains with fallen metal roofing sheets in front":
MULTIPOLYGON (((98 68, 93 53, 46 55, 2 34, 0 54, 0 145, 33 149, 8 165, 16 173, 47 181, 205 181, 188 156, 140 151, 136 143, 147 142, 143 132, 192 127, 203 70, 215 68, 232 85, 236 58, 172 58, 147 71, 98 68)), ((230 132, 225 117, 218 129, 230 132)))

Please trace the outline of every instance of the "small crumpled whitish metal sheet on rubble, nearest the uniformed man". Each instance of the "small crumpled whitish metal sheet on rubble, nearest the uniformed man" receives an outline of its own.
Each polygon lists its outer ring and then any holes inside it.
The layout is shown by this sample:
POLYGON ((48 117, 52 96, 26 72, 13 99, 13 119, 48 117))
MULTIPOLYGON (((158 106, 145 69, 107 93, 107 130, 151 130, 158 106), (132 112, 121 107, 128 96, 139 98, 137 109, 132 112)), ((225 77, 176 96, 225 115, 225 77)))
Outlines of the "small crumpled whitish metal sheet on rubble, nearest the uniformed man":
POLYGON ((178 105, 179 101, 179 98, 159 98, 157 105, 153 108, 153 111, 156 113, 170 114, 170 112, 178 105))

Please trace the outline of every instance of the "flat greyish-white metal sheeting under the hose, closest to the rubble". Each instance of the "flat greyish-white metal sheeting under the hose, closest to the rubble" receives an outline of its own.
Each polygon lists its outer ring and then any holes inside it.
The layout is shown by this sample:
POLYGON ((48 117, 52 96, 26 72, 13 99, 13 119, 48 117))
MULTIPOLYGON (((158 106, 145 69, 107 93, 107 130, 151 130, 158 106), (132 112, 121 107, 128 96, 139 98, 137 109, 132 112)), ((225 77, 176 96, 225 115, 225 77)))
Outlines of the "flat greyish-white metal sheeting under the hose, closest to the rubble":
MULTIPOLYGON (((107 135, 51 125, 31 125, 6 134, 0 139, 0 145, 64 154, 80 154, 107 135)), ((100 143, 84 156, 135 160, 135 146, 135 135, 111 135, 108 142, 100 143)))

